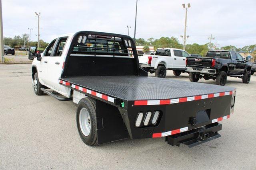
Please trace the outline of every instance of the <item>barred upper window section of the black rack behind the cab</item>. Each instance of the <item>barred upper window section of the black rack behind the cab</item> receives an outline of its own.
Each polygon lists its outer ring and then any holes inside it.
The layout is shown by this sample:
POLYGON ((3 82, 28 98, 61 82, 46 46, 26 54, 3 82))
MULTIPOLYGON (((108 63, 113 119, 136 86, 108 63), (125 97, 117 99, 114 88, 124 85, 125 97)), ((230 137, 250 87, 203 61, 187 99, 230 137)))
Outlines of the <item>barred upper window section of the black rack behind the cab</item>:
POLYGON ((105 57, 134 57, 136 47, 130 37, 106 34, 109 33, 86 33, 86 31, 78 33, 78 35, 74 37, 70 55, 94 55, 95 57, 98 55, 104 55, 105 57))

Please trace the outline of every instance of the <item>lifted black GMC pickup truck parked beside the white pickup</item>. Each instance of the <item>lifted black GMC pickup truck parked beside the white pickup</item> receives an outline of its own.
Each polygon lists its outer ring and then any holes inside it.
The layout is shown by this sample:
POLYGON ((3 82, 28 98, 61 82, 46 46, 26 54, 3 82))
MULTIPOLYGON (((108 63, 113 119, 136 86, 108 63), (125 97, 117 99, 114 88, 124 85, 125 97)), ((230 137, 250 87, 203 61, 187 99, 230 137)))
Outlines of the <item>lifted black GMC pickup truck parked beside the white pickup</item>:
POLYGON ((217 85, 225 86, 227 76, 242 78, 248 84, 251 78, 251 63, 235 51, 208 51, 206 57, 187 57, 186 67, 191 82, 199 79, 216 80, 217 85))

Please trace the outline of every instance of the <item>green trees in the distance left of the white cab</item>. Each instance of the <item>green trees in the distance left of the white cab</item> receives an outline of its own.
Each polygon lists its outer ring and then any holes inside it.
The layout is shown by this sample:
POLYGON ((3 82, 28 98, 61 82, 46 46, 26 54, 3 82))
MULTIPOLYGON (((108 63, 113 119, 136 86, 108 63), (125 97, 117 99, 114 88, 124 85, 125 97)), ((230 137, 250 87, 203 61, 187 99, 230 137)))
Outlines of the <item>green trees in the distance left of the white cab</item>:
MULTIPOLYGON (((44 40, 40 39, 40 49, 45 49, 49 43, 44 42, 44 40)), ((4 37, 4 45, 8 45, 12 48, 14 47, 29 47, 29 46, 37 46, 37 41, 30 41, 29 45, 29 35, 28 34, 22 34, 15 35, 12 37, 4 37)))

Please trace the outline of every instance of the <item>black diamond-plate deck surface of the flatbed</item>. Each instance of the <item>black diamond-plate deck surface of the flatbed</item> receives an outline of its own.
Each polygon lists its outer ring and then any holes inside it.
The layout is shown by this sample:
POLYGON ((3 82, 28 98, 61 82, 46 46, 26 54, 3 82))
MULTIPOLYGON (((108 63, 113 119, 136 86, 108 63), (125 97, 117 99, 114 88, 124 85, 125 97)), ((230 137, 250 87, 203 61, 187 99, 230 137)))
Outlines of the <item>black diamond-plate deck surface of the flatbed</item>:
POLYGON ((151 76, 79 76, 60 78, 122 100, 162 100, 233 91, 235 88, 151 76))

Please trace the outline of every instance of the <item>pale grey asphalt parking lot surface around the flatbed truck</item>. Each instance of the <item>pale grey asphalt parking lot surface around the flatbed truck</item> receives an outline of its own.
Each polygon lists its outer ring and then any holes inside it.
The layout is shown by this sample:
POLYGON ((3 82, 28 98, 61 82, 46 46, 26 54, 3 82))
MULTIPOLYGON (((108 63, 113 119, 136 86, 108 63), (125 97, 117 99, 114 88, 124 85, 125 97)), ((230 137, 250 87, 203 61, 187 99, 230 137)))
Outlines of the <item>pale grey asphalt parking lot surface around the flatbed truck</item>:
MULTIPOLYGON (((0 169, 256 169, 256 75, 237 88, 222 137, 188 148, 162 139, 88 147, 76 129, 76 106, 32 89, 31 64, 0 65, 0 169)), ((167 78, 189 81, 188 74, 167 78)), ((213 80, 199 82, 215 84, 213 80)))

